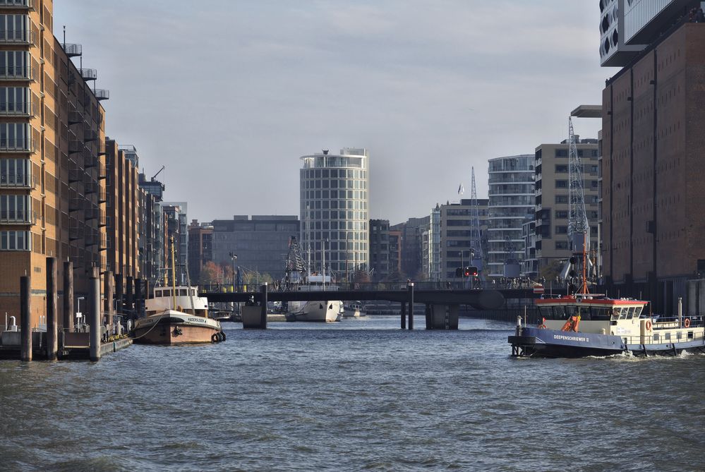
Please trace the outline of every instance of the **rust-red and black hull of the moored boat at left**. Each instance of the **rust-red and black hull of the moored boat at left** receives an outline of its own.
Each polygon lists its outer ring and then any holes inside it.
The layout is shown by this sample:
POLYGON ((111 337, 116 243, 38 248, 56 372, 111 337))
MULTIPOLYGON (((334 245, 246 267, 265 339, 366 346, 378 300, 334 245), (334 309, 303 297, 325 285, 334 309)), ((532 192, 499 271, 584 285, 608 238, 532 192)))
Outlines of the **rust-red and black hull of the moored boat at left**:
POLYGON ((222 340, 220 323, 210 318, 169 313, 135 322, 135 344, 203 344, 222 340))

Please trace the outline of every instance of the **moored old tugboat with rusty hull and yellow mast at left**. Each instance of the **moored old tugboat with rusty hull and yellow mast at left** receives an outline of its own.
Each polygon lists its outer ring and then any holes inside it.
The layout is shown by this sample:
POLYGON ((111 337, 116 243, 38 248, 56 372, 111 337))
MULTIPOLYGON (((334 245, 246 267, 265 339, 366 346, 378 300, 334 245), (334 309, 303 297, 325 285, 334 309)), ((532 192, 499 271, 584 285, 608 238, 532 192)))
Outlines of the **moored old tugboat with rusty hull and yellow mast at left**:
POLYGON ((145 317, 135 321, 133 341, 142 344, 197 344, 225 341, 220 322, 208 317, 208 301, 190 284, 176 286, 171 238, 171 286, 156 287, 145 300, 145 317))

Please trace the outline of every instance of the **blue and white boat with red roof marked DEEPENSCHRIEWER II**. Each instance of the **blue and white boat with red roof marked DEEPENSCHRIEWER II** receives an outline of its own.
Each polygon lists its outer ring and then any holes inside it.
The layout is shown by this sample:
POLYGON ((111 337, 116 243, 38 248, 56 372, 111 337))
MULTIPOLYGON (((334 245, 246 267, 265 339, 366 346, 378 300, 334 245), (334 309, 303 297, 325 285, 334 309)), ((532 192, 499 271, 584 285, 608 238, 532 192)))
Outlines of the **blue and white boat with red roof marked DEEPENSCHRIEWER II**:
POLYGON ((583 357, 632 353, 635 356, 677 356, 682 351, 705 353, 701 318, 647 315, 649 302, 574 294, 541 298, 536 306, 541 323, 522 326, 508 341, 512 356, 583 357))

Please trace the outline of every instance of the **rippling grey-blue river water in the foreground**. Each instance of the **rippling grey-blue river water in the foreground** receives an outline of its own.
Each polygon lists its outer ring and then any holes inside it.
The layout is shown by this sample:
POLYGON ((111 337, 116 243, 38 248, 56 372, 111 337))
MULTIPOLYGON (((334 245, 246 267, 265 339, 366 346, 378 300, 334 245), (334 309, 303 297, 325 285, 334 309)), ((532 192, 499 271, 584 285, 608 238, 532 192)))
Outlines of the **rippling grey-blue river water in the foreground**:
POLYGON ((0 361, 0 468, 705 470, 705 356, 520 360, 507 323, 398 325, 226 323, 223 344, 0 361))

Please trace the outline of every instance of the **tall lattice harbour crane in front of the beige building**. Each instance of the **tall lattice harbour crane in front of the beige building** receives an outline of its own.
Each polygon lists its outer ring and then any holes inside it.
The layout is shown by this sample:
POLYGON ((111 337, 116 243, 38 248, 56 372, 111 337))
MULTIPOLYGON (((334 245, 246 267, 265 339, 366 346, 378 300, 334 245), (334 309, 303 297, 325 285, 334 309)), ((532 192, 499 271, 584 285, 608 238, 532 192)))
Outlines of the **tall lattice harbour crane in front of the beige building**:
MULTIPOLYGON (((568 244, 572 257, 562 271, 563 279, 575 279, 582 269, 582 293, 587 293, 586 254, 590 250, 590 224, 585 211, 582 159, 578 155, 573 121, 568 117, 568 244)), ((577 288, 577 286, 576 286, 577 288)))

